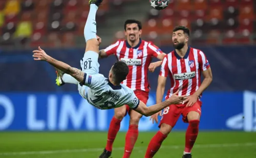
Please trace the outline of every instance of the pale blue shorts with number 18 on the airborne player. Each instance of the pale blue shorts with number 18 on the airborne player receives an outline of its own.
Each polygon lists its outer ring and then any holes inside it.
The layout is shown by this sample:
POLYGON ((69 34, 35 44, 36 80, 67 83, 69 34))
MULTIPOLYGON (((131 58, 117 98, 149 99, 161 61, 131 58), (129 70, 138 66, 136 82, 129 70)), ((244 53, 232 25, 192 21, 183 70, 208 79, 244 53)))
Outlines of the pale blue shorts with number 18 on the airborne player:
MULTIPOLYGON (((80 70, 87 74, 98 74, 99 73, 99 62, 98 62, 99 54, 95 51, 87 51, 84 53, 82 60, 80 61, 80 70)), ((89 87, 80 86, 78 84, 79 94, 87 99, 87 92, 89 87)))

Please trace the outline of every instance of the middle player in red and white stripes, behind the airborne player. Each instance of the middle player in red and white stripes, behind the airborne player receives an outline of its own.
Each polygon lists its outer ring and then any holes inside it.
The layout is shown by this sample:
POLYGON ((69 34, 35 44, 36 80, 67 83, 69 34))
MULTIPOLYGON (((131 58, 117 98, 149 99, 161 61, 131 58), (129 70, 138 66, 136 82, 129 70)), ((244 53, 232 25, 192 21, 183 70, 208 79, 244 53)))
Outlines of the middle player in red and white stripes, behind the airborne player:
MULTIPOLYGON (((152 42, 140 39, 142 33, 140 21, 134 19, 126 20, 124 22, 124 33, 126 40, 118 40, 114 44, 100 50, 99 57, 106 58, 114 55, 118 61, 125 62, 129 66, 130 71, 122 84, 134 90, 139 100, 146 104, 148 93, 150 92, 150 84, 147 78, 148 70, 153 72, 156 67, 161 65, 161 61, 151 63, 152 57, 163 60, 166 54, 152 42)), ((114 140, 120 129, 120 123, 126 112, 130 115, 130 125, 125 137, 123 158, 130 157, 139 135, 138 124, 142 115, 126 105, 115 109, 115 114, 108 131, 106 146, 99 156, 100 158, 110 157, 114 140)))

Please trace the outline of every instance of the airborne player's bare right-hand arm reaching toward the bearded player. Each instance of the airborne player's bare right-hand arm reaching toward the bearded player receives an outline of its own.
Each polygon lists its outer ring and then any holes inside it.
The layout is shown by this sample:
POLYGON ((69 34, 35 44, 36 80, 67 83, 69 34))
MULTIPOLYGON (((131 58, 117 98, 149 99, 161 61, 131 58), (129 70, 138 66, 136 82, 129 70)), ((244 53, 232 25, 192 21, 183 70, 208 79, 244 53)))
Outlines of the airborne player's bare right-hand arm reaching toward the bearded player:
POLYGON ((168 107, 170 104, 182 103, 186 99, 186 97, 185 97, 185 95, 178 96, 177 95, 178 93, 179 93, 179 90, 176 93, 174 93, 171 97, 169 97, 167 100, 165 100, 161 103, 155 104, 153 106, 150 106, 150 107, 146 107, 146 105, 140 101, 138 108, 136 108, 134 110, 144 116, 151 116, 151 115, 159 112, 160 110, 168 107))

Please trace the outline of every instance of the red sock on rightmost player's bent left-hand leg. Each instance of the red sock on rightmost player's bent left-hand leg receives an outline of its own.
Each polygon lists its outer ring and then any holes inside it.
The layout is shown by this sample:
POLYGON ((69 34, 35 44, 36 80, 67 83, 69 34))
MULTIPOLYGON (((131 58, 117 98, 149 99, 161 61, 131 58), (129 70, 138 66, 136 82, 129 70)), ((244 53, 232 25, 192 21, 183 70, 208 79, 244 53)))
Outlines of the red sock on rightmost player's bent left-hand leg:
POLYGON ((166 137, 166 135, 158 131, 157 134, 150 141, 150 144, 148 144, 147 146, 145 158, 153 157, 159 150, 162 142, 165 140, 166 137))

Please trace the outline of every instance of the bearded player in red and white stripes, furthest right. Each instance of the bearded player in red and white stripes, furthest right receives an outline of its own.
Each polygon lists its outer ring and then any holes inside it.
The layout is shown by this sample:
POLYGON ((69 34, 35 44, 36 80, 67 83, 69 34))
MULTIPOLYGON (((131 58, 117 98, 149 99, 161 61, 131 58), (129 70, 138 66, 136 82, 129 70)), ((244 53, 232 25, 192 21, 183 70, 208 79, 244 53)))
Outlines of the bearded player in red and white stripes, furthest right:
POLYGON ((145 158, 150 158, 160 148, 164 139, 175 126, 180 115, 183 116, 183 121, 188 123, 185 136, 185 149, 183 158, 191 157, 191 150, 198 136, 199 121, 201 116, 200 100, 202 92, 210 85, 212 74, 209 62, 204 53, 192 47, 188 47, 189 29, 184 26, 178 26, 173 30, 173 43, 175 50, 167 54, 162 62, 156 101, 160 103, 163 98, 166 77, 169 75, 171 87, 168 90, 165 99, 168 99, 174 92, 179 90, 178 95, 186 95, 187 99, 176 105, 170 105, 151 117, 158 123, 158 115, 162 114, 159 124, 160 130, 152 138, 147 147, 145 158), (201 73, 204 80, 201 84, 201 73))

